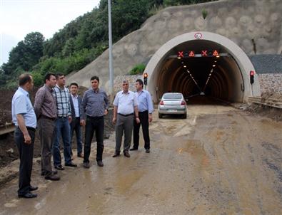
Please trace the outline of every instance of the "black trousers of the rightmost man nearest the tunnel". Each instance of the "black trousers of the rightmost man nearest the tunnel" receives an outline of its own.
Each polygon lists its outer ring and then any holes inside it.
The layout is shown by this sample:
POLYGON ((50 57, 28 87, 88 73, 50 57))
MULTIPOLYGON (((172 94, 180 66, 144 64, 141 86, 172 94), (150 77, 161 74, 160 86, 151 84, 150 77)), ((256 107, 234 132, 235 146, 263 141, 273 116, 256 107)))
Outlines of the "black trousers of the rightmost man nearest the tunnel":
POLYGON ((139 120, 140 123, 136 123, 136 120, 134 120, 134 148, 138 149, 139 147, 139 130, 140 126, 142 125, 142 132, 143 132, 143 138, 144 138, 144 148, 146 150, 150 150, 150 137, 148 134, 148 110, 139 112, 139 120))

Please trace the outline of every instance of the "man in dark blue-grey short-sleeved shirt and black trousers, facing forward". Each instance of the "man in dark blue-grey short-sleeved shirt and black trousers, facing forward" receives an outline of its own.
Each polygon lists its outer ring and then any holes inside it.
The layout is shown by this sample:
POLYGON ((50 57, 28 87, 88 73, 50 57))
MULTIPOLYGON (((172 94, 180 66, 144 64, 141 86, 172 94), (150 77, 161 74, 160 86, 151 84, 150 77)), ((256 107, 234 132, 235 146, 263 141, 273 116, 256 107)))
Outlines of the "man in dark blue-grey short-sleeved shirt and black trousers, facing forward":
POLYGON ((96 132, 97 153, 96 162, 99 167, 103 167, 104 151, 104 115, 108 114, 109 100, 104 90, 99 88, 99 77, 93 76, 91 79, 92 89, 86 90, 81 103, 81 125, 85 125, 84 142, 84 167, 89 168, 89 155, 91 141, 96 132))

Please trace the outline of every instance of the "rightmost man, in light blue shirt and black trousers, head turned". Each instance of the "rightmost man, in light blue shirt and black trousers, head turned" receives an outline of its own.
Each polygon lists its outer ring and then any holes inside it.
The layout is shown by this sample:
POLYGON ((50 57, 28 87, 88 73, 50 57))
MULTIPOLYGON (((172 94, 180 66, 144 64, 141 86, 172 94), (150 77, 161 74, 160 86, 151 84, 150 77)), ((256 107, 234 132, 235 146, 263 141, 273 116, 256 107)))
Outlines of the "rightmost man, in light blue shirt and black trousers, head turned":
POLYGON ((139 130, 142 125, 142 132, 144 138, 144 148, 146 153, 150 152, 150 136, 148 132, 149 122, 152 122, 153 102, 151 95, 147 90, 143 90, 143 81, 137 79, 135 83, 136 97, 138 100, 138 111, 140 123, 134 122, 134 147, 131 151, 138 150, 139 147, 139 130))

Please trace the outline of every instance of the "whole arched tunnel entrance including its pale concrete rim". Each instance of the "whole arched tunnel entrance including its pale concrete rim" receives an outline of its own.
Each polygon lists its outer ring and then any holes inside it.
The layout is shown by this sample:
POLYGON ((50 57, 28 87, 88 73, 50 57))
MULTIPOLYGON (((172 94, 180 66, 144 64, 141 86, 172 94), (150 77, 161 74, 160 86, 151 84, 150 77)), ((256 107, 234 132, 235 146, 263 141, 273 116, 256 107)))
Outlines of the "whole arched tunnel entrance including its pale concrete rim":
POLYGON ((192 32, 165 43, 146 66, 148 90, 153 100, 166 92, 180 92, 242 103, 260 95, 257 76, 248 56, 228 38, 210 32, 192 32))

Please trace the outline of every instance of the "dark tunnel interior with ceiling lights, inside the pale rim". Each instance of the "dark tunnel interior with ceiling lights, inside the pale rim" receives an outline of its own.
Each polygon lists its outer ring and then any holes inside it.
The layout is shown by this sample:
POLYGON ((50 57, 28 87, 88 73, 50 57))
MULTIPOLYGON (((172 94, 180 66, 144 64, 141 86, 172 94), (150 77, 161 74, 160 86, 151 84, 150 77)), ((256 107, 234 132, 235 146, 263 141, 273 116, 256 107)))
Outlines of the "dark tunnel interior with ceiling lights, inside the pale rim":
POLYGON ((158 63, 157 75, 157 98, 166 92, 180 92, 185 98, 203 95, 231 102, 243 100, 241 70, 218 43, 195 40, 179 44, 158 63))

